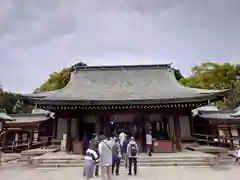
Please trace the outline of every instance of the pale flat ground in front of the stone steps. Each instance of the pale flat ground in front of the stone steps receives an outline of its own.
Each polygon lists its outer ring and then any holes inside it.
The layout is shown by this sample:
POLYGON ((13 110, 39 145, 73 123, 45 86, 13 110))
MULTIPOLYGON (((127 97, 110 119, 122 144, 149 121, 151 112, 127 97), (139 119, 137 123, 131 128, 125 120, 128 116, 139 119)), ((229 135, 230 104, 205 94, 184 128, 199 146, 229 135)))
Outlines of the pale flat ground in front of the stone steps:
MULTIPOLYGON (((239 176, 239 166, 221 168, 199 167, 152 167, 141 168, 137 177, 127 176, 125 170, 113 180, 226 180, 239 176)), ((33 169, 19 165, 4 165, 0 168, 1 180, 82 180, 81 168, 33 169)), ((100 180, 100 178, 94 178, 100 180)))

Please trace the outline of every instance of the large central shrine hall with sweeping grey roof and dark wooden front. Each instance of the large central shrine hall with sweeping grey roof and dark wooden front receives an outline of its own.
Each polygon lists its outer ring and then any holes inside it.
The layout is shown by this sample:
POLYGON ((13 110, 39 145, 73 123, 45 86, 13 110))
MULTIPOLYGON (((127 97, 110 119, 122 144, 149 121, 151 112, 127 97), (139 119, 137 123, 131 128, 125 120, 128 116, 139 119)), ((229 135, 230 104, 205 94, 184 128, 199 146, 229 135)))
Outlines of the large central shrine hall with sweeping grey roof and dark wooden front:
POLYGON ((125 131, 145 151, 151 131, 155 152, 182 150, 192 138, 191 111, 223 98, 226 90, 183 87, 170 64, 75 67, 60 90, 28 95, 38 108, 55 113, 54 138, 67 134, 72 142, 89 140, 92 133, 110 136, 125 131))

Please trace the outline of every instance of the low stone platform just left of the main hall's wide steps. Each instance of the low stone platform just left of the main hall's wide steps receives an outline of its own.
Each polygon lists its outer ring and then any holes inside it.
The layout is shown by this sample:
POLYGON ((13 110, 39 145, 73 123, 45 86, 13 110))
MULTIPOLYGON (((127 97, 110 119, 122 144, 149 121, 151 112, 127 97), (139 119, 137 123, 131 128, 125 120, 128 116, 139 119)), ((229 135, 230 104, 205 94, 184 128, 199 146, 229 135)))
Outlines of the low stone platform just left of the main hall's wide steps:
POLYGON ((19 161, 28 161, 33 157, 41 156, 46 153, 54 153, 57 151, 58 149, 47 149, 47 148, 29 149, 21 152, 21 157, 19 158, 19 161))

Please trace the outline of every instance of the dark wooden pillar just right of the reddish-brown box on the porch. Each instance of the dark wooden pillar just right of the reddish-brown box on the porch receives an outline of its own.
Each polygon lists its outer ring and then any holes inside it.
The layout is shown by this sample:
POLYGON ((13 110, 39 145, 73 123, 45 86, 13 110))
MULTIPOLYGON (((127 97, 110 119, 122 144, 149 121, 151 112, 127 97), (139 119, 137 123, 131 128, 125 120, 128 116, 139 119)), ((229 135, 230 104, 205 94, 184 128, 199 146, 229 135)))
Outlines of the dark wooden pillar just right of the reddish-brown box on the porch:
POLYGON ((181 151, 182 150, 181 127, 180 127, 178 115, 173 115, 173 124, 174 124, 174 135, 175 135, 176 148, 178 151, 181 151))

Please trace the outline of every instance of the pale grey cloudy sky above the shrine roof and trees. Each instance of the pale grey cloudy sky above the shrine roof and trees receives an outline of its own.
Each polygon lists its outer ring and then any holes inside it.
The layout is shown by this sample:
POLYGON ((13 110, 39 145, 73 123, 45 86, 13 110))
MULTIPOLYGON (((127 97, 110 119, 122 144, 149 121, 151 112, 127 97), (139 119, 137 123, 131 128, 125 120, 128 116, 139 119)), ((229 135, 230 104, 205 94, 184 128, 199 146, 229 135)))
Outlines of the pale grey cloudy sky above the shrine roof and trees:
POLYGON ((240 0, 1 0, 0 82, 31 92, 88 65, 240 63, 240 0))

